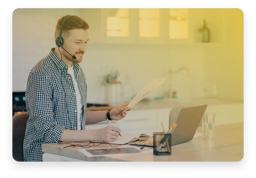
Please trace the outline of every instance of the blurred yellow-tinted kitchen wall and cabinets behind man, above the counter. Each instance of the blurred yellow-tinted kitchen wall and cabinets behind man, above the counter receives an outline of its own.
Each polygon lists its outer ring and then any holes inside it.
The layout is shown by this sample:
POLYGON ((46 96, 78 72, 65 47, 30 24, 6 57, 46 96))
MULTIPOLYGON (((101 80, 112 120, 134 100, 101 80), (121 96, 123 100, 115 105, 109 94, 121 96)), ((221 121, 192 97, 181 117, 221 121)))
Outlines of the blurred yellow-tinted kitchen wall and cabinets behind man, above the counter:
POLYGON ((80 63, 89 103, 106 103, 112 79, 120 86, 117 102, 129 102, 151 78, 166 79, 148 99, 243 101, 244 14, 232 8, 15 9, 13 92, 25 92, 32 67, 55 47, 58 19, 68 14, 90 26, 80 63))

